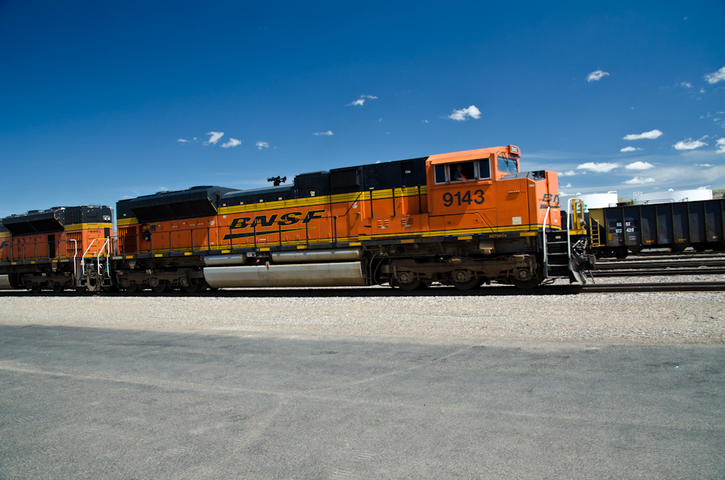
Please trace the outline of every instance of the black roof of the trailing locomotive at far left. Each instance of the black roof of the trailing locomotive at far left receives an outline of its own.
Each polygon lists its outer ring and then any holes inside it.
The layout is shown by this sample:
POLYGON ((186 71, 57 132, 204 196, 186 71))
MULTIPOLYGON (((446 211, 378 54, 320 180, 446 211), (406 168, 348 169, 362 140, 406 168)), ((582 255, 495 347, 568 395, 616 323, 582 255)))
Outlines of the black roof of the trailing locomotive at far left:
POLYGON ((65 225, 76 223, 102 223, 111 221, 111 208, 105 205, 80 207, 53 207, 49 210, 30 210, 2 219, 2 224, 13 235, 53 233, 63 231, 65 225))

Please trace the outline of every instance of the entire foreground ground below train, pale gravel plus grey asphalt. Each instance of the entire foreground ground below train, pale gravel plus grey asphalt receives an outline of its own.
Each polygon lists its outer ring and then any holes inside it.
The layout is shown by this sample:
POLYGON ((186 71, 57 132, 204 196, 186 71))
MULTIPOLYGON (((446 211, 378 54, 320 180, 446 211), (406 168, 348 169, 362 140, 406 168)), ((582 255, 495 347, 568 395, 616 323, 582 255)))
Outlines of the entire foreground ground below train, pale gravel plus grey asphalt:
POLYGON ((0 295, 0 479, 725 477, 725 293, 246 293, 0 295))

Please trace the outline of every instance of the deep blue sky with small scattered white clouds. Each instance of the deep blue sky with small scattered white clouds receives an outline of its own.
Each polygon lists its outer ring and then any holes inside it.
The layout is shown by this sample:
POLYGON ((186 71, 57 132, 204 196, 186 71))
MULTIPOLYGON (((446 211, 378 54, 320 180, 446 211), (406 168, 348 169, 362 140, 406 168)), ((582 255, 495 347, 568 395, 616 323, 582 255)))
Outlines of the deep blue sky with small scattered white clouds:
POLYGON ((706 0, 0 0, 0 215, 507 144, 564 193, 725 188, 723 25, 706 0))

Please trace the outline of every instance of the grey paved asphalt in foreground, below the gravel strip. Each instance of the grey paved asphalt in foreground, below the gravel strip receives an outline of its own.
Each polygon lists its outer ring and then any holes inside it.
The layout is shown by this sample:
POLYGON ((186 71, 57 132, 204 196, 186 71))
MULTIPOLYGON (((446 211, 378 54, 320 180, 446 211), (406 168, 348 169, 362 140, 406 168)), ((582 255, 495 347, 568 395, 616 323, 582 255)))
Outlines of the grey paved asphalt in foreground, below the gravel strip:
POLYGON ((0 326, 0 479, 725 478, 725 347, 0 326))

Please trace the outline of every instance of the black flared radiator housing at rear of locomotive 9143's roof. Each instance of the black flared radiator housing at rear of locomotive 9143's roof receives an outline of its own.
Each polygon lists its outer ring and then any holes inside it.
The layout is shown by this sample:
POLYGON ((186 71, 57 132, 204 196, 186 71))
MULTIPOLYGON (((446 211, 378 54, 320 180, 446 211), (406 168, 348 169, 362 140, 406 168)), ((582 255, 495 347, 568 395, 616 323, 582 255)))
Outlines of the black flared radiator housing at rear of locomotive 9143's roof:
POLYGON ((217 214, 221 196, 232 190, 221 186, 196 186, 120 200, 116 204, 117 218, 136 217, 139 222, 160 222, 210 217, 217 214))

